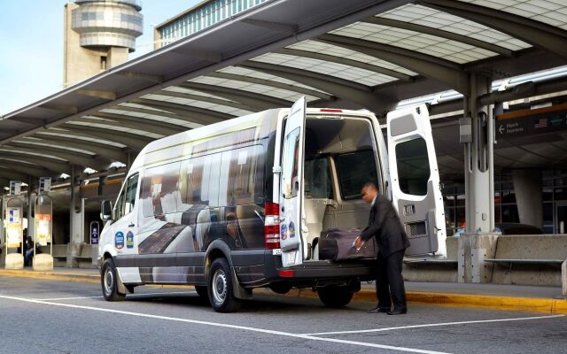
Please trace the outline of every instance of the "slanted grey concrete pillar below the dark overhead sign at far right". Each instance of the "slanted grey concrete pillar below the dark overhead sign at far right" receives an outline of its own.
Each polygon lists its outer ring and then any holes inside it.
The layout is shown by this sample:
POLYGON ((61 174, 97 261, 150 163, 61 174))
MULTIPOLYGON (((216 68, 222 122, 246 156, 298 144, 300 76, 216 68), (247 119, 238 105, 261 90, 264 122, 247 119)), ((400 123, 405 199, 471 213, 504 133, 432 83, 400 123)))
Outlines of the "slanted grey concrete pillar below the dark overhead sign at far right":
POLYGON ((541 196, 540 172, 536 170, 512 171, 512 182, 516 194, 517 213, 520 222, 543 226, 543 197, 541 196))

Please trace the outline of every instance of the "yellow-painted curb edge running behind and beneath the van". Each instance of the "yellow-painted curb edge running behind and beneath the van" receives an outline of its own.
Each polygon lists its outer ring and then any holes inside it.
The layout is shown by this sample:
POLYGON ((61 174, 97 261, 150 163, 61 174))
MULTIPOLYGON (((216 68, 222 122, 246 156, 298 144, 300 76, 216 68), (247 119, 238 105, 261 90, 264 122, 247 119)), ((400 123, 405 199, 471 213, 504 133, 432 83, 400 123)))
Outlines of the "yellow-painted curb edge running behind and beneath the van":
MULTIPOLYGON (((0 276, 12 276, 18 278, 32 278, 51 281, 80 281, 89 283, 99 283, 98 274, 84 273, 50 273, 36 272, 27 270, 0 270, 0 276)), ((167 289, 193 289, 189 285, 149 285, 151 288, 167 289)), ((307 297, 316 298, 317 293, 311 289, 292 289, 285 295, 278 295, 269 289, 254 289, 254 293, 268 296, 285 297, 307 297)), ((407 293, 408 303, 410 304, 431 304, 438 306, 469 307, 482 309, 497 309, 503 311, 517 312, 541 312, 552 315, 567 315, 567 300, 546 299, 533 297, 513 297, 513 296, 486 296, 486 295, 464 295, 451 293, 434 292, 413 292, 407 293)), ((376 292, 369 289, 361 289, 353 296, 353 301, 376 302, 376 292)))

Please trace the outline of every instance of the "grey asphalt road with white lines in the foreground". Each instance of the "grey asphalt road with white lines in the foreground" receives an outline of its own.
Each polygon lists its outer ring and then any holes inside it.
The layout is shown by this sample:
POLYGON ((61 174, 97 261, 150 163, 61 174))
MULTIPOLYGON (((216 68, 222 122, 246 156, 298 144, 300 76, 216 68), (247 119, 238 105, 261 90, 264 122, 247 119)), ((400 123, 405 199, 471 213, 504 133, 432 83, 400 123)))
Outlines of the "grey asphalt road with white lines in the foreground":
POLYGON ((188 289, 136 288, 108 303, 92 283, 0 277, 0 353, 565 353, 567 317, 258 296, 214 312, 188 289))

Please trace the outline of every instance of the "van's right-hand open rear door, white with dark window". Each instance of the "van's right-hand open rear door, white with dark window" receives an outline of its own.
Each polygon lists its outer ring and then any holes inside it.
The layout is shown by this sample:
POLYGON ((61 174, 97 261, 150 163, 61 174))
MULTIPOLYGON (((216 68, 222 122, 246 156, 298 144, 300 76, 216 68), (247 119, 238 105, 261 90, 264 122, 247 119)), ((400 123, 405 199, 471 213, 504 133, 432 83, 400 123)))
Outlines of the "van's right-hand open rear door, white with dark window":
POLYGON ((406 256, 447 256, 445 212, 425 104, 388 113, 392 203, 411 246, 406 256))

